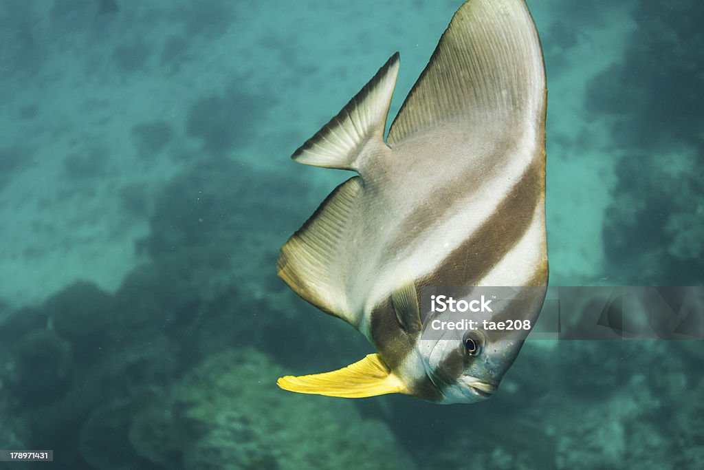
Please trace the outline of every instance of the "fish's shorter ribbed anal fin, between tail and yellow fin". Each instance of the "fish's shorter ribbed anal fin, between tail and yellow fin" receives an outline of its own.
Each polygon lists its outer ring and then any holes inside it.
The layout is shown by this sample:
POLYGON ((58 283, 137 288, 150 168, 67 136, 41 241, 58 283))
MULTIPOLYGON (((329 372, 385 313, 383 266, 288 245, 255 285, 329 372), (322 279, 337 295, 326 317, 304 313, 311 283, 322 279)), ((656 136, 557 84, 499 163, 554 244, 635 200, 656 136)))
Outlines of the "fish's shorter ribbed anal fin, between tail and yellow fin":
POLYGON ((303 227, 281 249, 277 273, 285 283, 322 311, 352 325, 356 319, 347 304, 344 279, 334 268, 344 237, 350 230, 350 214, 362 191, 355 176, 329 194, 303 227))

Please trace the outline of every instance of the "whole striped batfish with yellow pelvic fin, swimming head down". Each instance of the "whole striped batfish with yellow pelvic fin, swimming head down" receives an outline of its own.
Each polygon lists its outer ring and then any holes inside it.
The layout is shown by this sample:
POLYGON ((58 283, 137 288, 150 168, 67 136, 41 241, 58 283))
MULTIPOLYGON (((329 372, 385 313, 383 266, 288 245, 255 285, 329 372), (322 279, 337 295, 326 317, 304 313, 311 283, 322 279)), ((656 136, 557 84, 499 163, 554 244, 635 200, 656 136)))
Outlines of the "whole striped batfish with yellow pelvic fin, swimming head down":
MULTIPOLYGON (((298 295, 377 349, 327 373, 279 378, 335 397, 401 392, 440 403, 494 392, 525 330, 428 335, 425 287, 522 286, 489 319, 534 323, 548 280, 546 81, 524 0, 455 13, 384 142, 398 53, 293 155, 356 171, 282 247, 298 295)), ((479 318, 479 317, 477 317, 479 318)))

